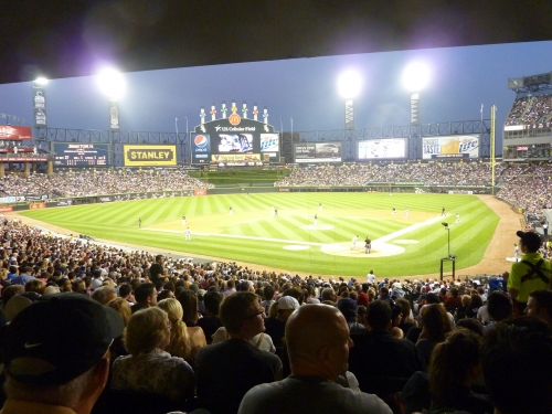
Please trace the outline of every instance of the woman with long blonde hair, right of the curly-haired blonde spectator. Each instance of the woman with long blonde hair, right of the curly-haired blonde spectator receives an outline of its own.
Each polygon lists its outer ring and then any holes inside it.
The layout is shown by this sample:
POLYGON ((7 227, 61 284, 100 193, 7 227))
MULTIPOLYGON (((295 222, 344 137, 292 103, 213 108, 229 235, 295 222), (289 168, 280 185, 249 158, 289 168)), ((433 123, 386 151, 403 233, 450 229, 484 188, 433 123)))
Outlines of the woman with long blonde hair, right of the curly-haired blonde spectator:
POLYGON ((205 333, 200 327, 188 327, 182 320, 184 311, 177 299, 160 300, 157 306, 164 310, 172 325, 170 342, 164 348, 172 357, 193 361, 200 349, 206 346, 205 333))

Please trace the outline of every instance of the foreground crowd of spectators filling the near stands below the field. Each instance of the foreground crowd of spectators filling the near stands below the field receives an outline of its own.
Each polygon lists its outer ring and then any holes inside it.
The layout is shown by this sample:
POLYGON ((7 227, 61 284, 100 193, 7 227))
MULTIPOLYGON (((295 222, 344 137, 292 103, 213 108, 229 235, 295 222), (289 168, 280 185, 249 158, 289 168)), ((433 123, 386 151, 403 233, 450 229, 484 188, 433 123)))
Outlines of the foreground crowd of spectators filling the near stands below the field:
MULTIPOLYGON (((540 238, 518 235, 522 261, 539 259, 540 238)), ((322 280, 126 252, 15 220, 2 219, 0 237, 2 413, 552 406, 550 263, 528 293, 522 263, 492 280, 322 280)))

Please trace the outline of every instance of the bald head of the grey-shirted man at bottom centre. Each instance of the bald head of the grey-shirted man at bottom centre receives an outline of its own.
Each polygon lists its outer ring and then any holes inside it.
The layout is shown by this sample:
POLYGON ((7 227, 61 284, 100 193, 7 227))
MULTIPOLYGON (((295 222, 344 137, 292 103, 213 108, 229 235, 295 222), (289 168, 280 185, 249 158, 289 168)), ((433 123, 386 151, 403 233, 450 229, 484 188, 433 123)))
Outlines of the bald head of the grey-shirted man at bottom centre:
POLYGON ((352 341, 343 315, 333 306, 301 306, 287 320, 286 343, 294 374, 333 380, 347 371, 352 341))

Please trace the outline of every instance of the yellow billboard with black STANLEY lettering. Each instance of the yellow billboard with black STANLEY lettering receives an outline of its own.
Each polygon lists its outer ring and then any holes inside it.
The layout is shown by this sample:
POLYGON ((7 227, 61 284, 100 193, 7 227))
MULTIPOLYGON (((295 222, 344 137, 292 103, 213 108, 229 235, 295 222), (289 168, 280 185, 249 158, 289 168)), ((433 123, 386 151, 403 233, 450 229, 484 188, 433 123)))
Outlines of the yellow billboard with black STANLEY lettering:
POLYGON ((177 166, 177 146, 124 145, 123 164, 125 167, 174 167, 177 166))

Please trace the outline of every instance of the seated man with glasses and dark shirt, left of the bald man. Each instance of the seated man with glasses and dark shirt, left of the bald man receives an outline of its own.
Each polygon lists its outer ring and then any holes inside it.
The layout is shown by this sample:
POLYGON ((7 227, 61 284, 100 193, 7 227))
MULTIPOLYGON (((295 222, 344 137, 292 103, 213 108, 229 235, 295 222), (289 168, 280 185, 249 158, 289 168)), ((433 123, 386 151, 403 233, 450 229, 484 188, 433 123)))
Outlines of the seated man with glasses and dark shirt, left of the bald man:
POLYGON ((247 391, 280 378, 280 359, 250 343, 265 330, 263 315, 258 297, 248 291, 222 302, 220 316, 230 339, 203 347, 195 360, 200 406, 212 414, 236 413, 247 391))

